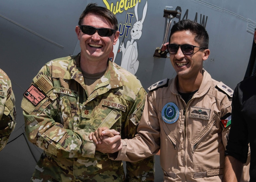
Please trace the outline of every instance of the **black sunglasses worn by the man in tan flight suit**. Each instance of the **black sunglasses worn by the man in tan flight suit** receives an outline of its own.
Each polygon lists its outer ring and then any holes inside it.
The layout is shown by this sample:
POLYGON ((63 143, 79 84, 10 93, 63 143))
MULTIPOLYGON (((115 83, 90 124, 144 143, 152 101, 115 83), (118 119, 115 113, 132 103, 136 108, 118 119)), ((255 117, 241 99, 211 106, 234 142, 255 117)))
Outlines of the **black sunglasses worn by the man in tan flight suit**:
MULTIPOLYGON (((198 47, 198 46, 189 45, 189 44, 177 45, 177 44, 173 44, 173 43, 168 44, 166 46, 167 46, 167 51, 168 51, 169 54, 176 54, 179 50, 179 47, 181 46, 181 51, 185 55, 193 54, 194 48, 198 47)), ((207 48, 204 48, 204 47, 199 47, 199 48, 207 49, 207 48)))

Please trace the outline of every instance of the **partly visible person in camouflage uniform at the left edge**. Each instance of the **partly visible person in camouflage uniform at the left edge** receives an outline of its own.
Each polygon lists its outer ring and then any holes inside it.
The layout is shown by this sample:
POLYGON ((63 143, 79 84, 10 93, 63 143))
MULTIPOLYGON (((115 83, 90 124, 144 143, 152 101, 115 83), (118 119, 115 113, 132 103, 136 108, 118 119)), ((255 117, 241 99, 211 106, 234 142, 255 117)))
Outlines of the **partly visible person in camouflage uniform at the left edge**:
POLYGON ((15 98, 11 89, 11 80, 0 69, 0 151, 7 144, 15 124, 15 98))

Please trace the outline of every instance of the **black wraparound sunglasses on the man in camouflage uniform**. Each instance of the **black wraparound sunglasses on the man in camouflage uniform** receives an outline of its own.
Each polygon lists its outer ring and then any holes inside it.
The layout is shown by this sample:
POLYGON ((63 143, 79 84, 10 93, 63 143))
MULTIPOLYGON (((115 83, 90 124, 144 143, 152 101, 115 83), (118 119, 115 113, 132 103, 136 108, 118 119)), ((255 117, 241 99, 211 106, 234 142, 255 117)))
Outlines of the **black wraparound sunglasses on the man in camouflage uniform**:
POLYGON ((113 30, 110 28, 95 28, 93 26, 88 26, 88 25, 80 25, 79 27, 83 33, 88 35, 95 34, 97 30, 98 34, 102 37, 110 37, 111 35, 113 35, 113 33, 116 32, 116 30, 113 30))

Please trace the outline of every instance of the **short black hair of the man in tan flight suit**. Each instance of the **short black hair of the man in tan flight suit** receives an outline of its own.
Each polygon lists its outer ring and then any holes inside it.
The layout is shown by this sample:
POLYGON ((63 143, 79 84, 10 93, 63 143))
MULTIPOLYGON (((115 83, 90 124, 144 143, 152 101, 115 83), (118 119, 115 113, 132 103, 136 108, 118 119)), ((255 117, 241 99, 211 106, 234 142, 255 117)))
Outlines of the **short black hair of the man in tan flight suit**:
POLYGON ((208 49, 209 46, 209 36, 205 28, 191 20, 181 20, 178 23, 174 24, 171 28, 171 33, 169 37, 169 41, 171 36, 178 31, 188 30, 193 35, 195 35, 195 42, 199 44, 200 47, 204 47, 208 49))

